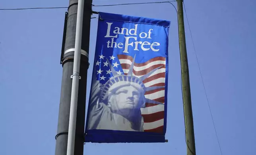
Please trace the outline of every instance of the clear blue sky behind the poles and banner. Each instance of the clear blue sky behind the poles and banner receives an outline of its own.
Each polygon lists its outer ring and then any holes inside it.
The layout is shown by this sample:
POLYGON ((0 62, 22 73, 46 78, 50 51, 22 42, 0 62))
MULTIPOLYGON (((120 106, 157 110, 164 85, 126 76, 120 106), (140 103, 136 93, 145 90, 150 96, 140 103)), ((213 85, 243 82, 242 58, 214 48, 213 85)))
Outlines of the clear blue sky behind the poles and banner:
MULTIPOLYGON (((95 5, 132 2, 138 0, 93 0, 95 5)), ((176 6, 176 2, 174 4, 176 6)), ((185 5, 223 155, 255 154, 256 2, 185 0, 185 5)), ((68 0, 3 0, 0 4, 0 8, 57 6, 68 6, 68 0)), ((93 10, 171 21, 166 133, 169 142, 88 143, 85 144, 84 154, 185 155, 175 9, 171 4, 144 4, 94 7, 93 10)), ((62 79, 62 66, 59 62, 65 11, 66 9, 0 11, 0 155, 54 154, 62 79)), ((196 152, 198 155, 220 155, 186 21, 185 24, 196 152)), ((91 64, 96 33, 97 19, 92 19, 89 51, 91 64)), ((92 66, 88 73, 91 71, 92 66)), ((88 88, 90 81, 89 78, 88 88)))

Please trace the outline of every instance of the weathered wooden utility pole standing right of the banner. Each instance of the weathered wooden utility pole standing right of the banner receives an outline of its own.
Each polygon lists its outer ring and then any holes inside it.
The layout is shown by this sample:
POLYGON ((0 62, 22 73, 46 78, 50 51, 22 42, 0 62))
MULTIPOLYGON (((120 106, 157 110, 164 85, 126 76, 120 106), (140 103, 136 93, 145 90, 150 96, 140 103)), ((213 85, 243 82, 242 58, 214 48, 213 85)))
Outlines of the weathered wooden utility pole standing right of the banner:
POLYGON ((185 117, 186 145, 187 145, 187 155, 196 155, 189 72, 188 72, 188 57, 187 57, 187 50, 186 50, 182 2, 183 0, 177 0, 178 35, 179 35, 179 45, 180 45, 182 98, 183 98, 183 108, 184 108, 184 117, 185 117))

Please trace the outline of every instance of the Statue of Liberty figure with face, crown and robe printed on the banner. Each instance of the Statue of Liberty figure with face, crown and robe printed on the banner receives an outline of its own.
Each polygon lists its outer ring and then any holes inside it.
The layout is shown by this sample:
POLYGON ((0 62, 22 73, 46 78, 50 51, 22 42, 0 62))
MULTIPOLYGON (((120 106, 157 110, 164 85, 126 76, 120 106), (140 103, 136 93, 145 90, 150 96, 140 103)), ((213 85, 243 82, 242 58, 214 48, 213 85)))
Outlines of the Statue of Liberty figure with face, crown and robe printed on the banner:
MULTIPOLYGON (((133 76, 134 59, 128 74, 118 75, 107 59, 113 77, 105 85, 93 78, 91 100, 89 106, 88 130, 123 130, 143 132, 144 120, 140 108, 145 103, 162 104, 145 98, 145 92, 165 86, 145 87, 142 82, 162 66, 151 70, 140 78, 133 76)), ((95 77, 96 74, 93 73, 95 77)))

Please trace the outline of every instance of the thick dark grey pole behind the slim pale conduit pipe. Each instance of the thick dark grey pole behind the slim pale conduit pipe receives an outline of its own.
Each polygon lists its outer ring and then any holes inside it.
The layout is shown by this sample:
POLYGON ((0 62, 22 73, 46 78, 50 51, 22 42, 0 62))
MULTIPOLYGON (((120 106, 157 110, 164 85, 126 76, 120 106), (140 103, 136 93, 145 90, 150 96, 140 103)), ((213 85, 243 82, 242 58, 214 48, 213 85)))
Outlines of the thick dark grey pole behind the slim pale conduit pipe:
MULTIPOLYGON (((68 143, 68 126, 70 116, 70 100, 73 66, 74 66, 74 48, 76 38, 76 19, 77 19, 78 0, 69 0, 68 19, 66 28, 66 41, 64 46, 64 55, 62 57, 62 86, 60 93, 60 108, 58 116, 58 129, 56 135, 55 155, 66 155, 68 143)), ((76 137, 75 137, 75 155, 83 155, 84 142, 84 123, 85 123, 85 98, 87 85, 89 37, 91 22, 91 0, 85 0, 83 11, 83 32, 81 45, 81 62, 78 88, 78 104, 76 116, 76 137)))

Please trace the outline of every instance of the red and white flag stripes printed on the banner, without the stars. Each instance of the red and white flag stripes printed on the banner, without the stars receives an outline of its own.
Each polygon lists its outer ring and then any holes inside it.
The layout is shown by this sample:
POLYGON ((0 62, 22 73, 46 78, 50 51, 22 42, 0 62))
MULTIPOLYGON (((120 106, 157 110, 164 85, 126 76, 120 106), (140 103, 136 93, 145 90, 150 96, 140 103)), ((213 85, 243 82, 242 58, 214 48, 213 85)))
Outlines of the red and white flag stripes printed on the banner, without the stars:
MULTIPOLYGON (((118 59, 122 66, 124 74, 128 73, 128 69, 132 64, 133 58, 129 55, 118 55, 118 59)), ((141 77, 151 70, 162 66, 143 83, 145 87, 165 86, 165 57, 155 57, 144 63, 134 63, 133 76, 141 77)), ((157 102, 165 103, 165 88, 147 91, 145 97, 157 102)), ((163 132, 164 124, 164 105, 146 103, 146 108, 142 108, 142 117, 144 118, 145 132, 163 132)))

